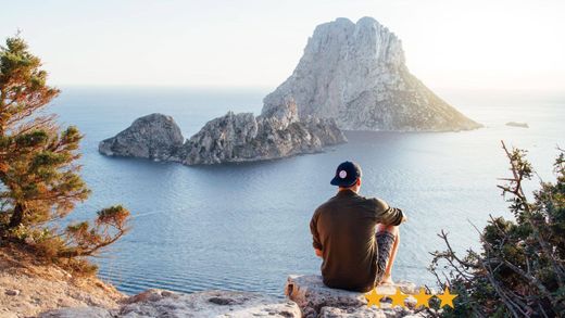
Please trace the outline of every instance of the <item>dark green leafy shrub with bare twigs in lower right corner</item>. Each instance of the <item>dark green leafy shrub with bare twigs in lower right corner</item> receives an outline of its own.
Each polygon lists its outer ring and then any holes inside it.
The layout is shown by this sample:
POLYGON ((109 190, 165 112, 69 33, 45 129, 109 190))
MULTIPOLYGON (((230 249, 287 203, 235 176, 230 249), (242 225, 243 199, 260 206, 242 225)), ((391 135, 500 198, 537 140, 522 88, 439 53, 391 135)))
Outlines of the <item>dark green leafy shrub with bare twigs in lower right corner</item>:
POLYGON ((439 283, 450 285, 455 308, 445 317, 565 316, 565 156, 554 164, 556 181, 541 182, 530 202, 523 182, 533 169, 526 152, 508 151, 512 176, 499 186, 510 203, 513 220, 491 217, 480 232, 481 250, 457 256, 443 231, 447 250, 435 252, 430 266, 439 283), (440 278, 440 269, 448 274, 440 278))

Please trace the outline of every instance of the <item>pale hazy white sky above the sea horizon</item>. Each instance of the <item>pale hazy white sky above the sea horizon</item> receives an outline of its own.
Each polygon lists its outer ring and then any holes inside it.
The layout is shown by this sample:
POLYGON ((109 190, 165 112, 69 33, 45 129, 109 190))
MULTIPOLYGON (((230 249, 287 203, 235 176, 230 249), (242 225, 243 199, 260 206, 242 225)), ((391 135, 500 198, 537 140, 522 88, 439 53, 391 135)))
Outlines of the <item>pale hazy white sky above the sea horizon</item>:
POLYGON ((275 87, 317 24, 368 15, 402 39, 409 68, 432 88, 565 91, 562 0, 23 0, 0 8, 0 36, 21 29, 60 86, 275 87))

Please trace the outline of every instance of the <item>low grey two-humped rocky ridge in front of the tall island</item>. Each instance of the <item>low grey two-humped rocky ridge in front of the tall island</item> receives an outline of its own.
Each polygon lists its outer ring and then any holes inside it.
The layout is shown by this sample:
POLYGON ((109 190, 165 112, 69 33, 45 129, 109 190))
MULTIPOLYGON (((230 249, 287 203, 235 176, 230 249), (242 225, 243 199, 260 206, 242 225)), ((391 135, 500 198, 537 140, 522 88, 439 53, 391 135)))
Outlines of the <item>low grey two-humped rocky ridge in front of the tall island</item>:
POLYGON ((331 118, 298 119, 297 105, 287 100, 261 116, 234 114, 208 122, 186 142, 172 117, 151 114, 100 142, 99 152, 185 165, 238 163, 280 158, 323 151, 347 141, 331 118))

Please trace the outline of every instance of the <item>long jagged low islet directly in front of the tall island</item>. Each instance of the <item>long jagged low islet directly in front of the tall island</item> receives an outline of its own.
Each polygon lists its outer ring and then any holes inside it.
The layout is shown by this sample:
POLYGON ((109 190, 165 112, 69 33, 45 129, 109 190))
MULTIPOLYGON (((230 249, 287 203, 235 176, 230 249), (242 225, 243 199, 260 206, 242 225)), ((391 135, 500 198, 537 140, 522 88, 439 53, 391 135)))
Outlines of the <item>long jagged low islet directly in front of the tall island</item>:
POLYGON ((180 161, 193 165, 273 160, 342 142, 346 137, 332 119, 299 122, 297 105, 287 101, 259 117, 229 112, 210 120, 185 143, 180 161))

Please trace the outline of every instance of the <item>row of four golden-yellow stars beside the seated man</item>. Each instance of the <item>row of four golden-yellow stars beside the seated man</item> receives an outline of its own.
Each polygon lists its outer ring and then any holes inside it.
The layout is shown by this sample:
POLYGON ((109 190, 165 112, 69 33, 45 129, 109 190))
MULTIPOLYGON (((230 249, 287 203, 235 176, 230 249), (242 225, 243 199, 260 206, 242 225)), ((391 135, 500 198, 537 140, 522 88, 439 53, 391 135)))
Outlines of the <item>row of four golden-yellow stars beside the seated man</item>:
MULTIPOLYGON (((394 294, 379 294, 377 293, 377 289, 374 288, 369 293, 365 294, 365 298, 367 300, 367 307, 375 305, 377 308, 380 306, 380 300, 384 297, 389 297, 392 300, 392 307, 401 306, 406 307, 404 301, 409 295, 402 293, 399 288, 397 288, 397 292, 394 294)), ((449 289, 445 288, 442 294, 426 294, 424 288, 419 289, 419 293, 412 295, 416 300, 415 307, 427 307, 429 308, 429 300, 434 296, 441 301, 440 307, 448 306, 453 308, 453 300, 457 296, 456 294, 450 293, 449 289)))

